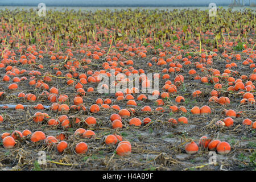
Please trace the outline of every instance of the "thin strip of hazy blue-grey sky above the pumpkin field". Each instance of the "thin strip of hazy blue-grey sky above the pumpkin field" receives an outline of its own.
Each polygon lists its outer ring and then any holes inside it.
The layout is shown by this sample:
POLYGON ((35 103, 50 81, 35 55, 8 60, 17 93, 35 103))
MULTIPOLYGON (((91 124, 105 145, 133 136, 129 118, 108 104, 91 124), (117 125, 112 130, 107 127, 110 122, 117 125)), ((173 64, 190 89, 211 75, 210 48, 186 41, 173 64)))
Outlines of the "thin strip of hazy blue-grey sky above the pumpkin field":
MULTIPOLYGON (((244 1, 249 4, 249 0, 244 1)), ((0 6, 37 6, 40 2, 46 6, 208 6, 211 2, 217 6, 225 6, 232 0, 0 0, 0 6)), ((256 0, 251 2, 256 3, 256 0)))

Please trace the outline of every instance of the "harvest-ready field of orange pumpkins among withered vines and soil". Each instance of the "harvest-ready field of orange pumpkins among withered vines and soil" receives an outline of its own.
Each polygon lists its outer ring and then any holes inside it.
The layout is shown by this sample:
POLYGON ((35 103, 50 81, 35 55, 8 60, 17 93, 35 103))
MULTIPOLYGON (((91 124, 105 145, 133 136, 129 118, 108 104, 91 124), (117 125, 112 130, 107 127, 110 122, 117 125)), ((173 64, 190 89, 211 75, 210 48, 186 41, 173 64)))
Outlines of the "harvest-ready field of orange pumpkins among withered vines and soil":
POLYGON ((0 170, 255 170, 255 10, 217 12, 0 10, 0 170))

